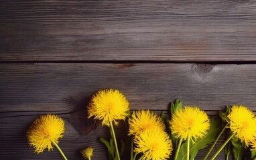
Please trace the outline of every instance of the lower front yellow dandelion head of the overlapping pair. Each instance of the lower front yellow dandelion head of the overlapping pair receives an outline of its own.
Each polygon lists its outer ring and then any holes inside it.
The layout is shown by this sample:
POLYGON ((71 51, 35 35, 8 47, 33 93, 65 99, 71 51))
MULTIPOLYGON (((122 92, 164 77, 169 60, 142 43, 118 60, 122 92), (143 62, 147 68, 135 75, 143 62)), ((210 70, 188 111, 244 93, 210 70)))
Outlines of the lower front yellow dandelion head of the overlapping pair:
POLYGON ((172 140, 169 135, 159 129, 145 130, 135 136, 135 153, 143 153, 142 159, 168 159, 172 153, 172 140))

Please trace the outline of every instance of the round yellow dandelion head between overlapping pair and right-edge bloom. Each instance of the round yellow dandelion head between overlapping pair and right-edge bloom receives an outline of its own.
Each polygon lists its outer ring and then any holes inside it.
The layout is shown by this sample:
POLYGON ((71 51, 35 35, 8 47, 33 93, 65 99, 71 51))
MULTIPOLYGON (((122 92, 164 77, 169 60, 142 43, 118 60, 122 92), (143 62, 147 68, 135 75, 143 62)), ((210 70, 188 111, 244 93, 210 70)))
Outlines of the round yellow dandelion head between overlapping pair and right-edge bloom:
POLYGON ((172 115, 170 125, 172 133, 177 138, 188 139, 188 137, 192 137, 196 139, 206 135, 210 127, 210 120, 207 114, 198 107, 185 107, 178 109, 172 115))

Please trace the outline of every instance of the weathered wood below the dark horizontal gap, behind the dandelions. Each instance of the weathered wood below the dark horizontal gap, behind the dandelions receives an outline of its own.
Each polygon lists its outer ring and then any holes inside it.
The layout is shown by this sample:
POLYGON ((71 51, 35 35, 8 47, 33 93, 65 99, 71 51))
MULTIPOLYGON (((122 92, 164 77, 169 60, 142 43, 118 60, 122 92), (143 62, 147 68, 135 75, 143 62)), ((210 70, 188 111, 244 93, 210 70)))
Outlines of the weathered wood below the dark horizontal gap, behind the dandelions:
MULTIPOLYGON (((88 146, 95 147, 94 159, 107 159, 107 150, 98 141, 99 137, 109 137, 106 127, 81 135, 70 123, 74 113, 85 109, 90 96, 99 89, 119 89, 133 110, 166 111, 168 104, 179 98, 185 105, 205 109, 209 115, 232 104, 247 105, 256 111, 255 69, 256 65, 193 63, 0 64, 0 159, 61 159, 56 149, 34 154, 25 138, 31 121, 46 113, 64 118, 66 132, 60 147, 69 159, 82 159, 78 151, 88 146)), ((118 139, 125 134, 123 125, 117 127, 118 139)), ((129 154, 129 147, 125 153, 129 154)), ((202 159, 205 153, 200 151, 196 159, 202 159)), ((218 159, 224 159, 223 153, 218 159)))

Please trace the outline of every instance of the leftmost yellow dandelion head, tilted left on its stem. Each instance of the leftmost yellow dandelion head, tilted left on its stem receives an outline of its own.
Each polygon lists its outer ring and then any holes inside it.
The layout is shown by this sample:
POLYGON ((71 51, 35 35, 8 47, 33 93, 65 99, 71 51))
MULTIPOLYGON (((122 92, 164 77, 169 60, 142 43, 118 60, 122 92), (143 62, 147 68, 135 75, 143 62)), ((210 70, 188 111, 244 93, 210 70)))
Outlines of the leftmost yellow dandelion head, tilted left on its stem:
POLYGON ((35 148, 36 153, 42 153, 44 149, 53 149, 52 142, 58 143, 58 139, 64 135, 64 121, 57 115, 42 115, 35 119, 27 129, 29 145, 35 148))

